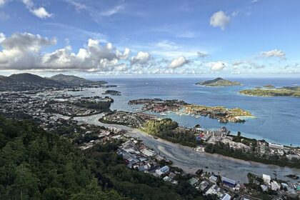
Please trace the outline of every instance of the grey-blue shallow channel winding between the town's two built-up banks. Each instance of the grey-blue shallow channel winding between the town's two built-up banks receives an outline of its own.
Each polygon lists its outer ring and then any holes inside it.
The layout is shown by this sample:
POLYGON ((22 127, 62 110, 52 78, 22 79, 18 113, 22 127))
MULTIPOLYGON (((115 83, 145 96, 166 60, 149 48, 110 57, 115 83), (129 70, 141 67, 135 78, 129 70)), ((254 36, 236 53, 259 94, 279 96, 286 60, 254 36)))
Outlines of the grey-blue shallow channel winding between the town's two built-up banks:
POLYGON ((129 131, 128 134, 131 136, 136 136, 141 139, 146 146, 149 146, 149 148, 161 152, 161 154, 173 161, 174 166, 179 166, 186 173, 194 174, 197 169, 204 169, 205 171, 219 172, 222 176, 227 176, 231 179, 236 179, 237 181, 245 183, 248 182, 246 174, 249 172, 258 175, 269 174, 274 176, 274 171, 276 171, 277 178, 290 181, 292 181, 292 179, 289 179, 286 175, 300 174, 300 169, 261 164, 254 161, 244 161, 228 156, 222 156, 220 154, 200 153, 194 151, 189 146, 182 146, 181 144, 175 144, 164 139, 154 139, 152 136, 142 133, 139 129, 134 129, 129 126, 103 124, 98 121, 103 115, 104 114, 89 116, 89 119, 87 117, 76 117, 75 119, 79 122, 95 124, 98 126, 115 126, 116 128, 125 129, 126 131, 129 131), (206 169, 206 166, 208 169, 206 169), (236 169, 235 173, 232 173, 232 169, 236 169))

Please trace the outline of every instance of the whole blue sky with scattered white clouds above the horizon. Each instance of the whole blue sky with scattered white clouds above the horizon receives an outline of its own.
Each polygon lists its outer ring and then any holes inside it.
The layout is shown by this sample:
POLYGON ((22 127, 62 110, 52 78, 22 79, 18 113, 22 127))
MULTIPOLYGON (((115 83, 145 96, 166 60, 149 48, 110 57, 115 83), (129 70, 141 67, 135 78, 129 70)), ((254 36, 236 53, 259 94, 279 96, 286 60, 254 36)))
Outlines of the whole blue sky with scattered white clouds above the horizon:
POLYGON ((299 76, 298 0, 0 0, 0 74, 299 76))

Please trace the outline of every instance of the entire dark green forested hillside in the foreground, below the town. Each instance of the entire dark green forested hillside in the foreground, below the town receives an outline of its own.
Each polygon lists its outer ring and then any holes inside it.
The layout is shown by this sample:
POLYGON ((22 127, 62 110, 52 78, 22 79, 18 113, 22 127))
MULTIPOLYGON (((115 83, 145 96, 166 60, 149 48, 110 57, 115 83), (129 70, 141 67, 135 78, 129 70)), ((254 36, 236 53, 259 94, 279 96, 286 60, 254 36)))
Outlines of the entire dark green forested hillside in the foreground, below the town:
POLYGON ((0 116, 0 199, 204 199, 190 176, 174 186, 128 169, 116 141, 83 153, 58 132, 0 116))

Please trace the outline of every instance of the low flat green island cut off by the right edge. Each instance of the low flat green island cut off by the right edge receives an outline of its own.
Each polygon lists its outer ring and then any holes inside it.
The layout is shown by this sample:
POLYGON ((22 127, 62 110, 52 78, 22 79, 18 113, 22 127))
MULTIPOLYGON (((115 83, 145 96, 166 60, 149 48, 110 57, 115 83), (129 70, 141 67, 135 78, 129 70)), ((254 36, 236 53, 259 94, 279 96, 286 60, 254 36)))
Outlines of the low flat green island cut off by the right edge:
POLYGON ((240 94, 249 96, 294 96, 300 97, 300 86, 284 86, 281 88, 266 87, 260 89, 245 89, 240 94))

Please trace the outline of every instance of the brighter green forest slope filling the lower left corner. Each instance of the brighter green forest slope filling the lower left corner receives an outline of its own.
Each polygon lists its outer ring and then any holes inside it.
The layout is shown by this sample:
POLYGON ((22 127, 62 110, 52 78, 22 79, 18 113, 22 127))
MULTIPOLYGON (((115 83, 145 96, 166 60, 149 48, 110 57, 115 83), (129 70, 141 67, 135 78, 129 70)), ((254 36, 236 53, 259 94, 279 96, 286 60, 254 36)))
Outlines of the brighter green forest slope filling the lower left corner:
POLYGON ((81 151, 29 121, 0 116, 0 149, 0 199, 122 199, 101 190, 81 151))

